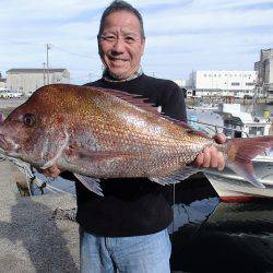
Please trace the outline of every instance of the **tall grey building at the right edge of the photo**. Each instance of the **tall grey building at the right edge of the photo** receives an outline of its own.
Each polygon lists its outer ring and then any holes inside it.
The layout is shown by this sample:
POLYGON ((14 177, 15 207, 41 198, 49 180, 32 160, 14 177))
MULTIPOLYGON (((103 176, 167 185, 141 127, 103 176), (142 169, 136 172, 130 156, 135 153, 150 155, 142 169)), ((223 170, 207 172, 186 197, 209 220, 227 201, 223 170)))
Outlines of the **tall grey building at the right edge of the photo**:
POLYGON ((273 48, 261 50, 260 61, 254 63, 254 69, 259 87, 273 99, 273 48))

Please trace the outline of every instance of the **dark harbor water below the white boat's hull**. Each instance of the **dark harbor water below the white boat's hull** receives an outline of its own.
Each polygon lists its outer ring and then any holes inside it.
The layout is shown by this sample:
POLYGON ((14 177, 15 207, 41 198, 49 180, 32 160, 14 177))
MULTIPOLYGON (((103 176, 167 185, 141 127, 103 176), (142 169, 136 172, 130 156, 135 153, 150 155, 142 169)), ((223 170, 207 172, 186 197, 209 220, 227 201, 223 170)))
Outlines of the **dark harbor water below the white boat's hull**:
POLYGON ((171 234, 173 270, 273 272, 273 201, 206 202, 216 205, 201 224, 190 222, 171 234))

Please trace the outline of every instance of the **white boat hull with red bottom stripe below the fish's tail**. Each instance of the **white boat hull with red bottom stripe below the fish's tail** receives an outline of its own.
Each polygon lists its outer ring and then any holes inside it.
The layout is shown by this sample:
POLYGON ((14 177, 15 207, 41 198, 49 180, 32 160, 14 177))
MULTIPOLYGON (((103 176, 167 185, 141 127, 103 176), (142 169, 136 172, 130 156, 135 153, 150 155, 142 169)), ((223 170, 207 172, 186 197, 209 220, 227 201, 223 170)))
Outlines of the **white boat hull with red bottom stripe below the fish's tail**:
POLYGON ((256 188, 227 168, 223 171, 205 170, 204 175, 223 201, 273 198, 273 157, 257 157, 253 166, 256 176, 265 186, 264 189, 256 188))

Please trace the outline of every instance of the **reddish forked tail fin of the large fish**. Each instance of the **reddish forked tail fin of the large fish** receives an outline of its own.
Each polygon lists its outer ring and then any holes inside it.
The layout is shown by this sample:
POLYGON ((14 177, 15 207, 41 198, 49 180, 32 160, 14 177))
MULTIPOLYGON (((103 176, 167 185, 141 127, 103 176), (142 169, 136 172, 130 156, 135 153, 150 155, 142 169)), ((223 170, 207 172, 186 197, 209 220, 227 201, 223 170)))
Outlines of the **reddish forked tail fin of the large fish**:
POLYGON ((228 141, 227 167, 258 188, 265 188, 254 176, 252 159, 273 147, 273 135, 228 141))

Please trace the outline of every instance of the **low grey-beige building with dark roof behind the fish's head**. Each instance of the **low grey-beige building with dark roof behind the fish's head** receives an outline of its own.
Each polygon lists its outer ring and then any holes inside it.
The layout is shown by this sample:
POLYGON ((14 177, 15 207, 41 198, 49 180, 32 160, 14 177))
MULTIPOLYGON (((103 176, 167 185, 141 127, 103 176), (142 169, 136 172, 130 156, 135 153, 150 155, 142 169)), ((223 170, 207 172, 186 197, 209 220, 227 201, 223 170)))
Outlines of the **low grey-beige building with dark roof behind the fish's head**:
POLYGON ((67 69, 10 69, 7 71, 7 87, 29 96, 35 90, 51 83, 69 83, 67 69))

